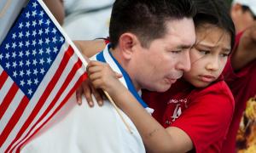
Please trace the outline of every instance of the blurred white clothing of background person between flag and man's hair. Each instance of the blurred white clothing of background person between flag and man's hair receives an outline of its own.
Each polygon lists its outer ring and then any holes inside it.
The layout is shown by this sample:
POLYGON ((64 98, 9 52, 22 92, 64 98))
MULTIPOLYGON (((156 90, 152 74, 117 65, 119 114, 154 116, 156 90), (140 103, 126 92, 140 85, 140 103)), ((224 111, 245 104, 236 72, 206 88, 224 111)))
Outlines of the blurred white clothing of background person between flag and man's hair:
POLYGON ((108 37, 108 26, 114 0, 65 0, 66 19, 63 28, 72 40, 108 37))

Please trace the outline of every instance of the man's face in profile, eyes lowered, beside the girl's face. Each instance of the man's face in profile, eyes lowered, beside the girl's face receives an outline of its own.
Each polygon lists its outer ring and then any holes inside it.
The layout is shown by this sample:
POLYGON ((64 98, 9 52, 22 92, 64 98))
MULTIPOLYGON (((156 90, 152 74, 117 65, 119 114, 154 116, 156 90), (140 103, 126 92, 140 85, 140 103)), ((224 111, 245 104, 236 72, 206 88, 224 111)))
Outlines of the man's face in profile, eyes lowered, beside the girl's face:
POLYGON ((189 71, 189 50, 195 43, 192 19, 166 21, 166 36, 153 40, 148 48, 137 45, 130 76, 137 88, 164 92, 189 71))

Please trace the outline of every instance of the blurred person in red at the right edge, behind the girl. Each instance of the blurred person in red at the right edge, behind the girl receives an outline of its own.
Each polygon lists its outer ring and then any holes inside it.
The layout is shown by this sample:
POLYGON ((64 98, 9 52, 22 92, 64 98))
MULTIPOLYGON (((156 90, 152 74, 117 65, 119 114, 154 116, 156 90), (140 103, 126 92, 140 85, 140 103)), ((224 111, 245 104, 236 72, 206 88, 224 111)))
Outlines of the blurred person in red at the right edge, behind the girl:
MULTIPOLYGON (((225 67, 224 76, 236 104, 222 152, 235 152, 250 148, 247 138, 249 135, 253 135, 253 131, 250 129, 251 125, 255 126, 255 124, 251 123, 256 121, 256 117, 248 118, 245 113, 247 105, 256 103, 255 100, 252 100, 256 95, 256 1, 235 0, 230 11, 236 26, 236 46, 225 67), (241 120, 242 116, 243 120, 241 120), (238 130, 239 135, 237 135, 238 130)), ((253 107, 247 109, 256 113, 256 109, 253 107)), ((250 141, 253 142, 253 139, 250 141)))

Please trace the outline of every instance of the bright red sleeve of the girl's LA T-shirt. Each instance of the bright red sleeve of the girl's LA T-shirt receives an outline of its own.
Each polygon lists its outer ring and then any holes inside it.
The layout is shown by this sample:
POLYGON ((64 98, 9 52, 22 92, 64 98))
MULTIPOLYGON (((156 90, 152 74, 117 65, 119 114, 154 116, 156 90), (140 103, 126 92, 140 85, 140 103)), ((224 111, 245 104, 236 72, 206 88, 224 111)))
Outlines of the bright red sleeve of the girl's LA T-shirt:
POLYGON ((220 150, 233 111, 234 99, 230 93, 215 88, 194 95, 189 108, 171 126, 181 128, 189 135, 196 152, 205 152, 214 144, 220 150))

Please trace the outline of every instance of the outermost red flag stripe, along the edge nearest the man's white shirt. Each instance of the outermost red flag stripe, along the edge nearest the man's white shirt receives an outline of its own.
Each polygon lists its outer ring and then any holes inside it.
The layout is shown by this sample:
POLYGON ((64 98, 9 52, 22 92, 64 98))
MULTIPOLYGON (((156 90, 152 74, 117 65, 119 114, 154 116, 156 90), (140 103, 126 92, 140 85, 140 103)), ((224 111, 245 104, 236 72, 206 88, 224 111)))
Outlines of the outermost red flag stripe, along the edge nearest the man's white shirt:
MULTIPOLYGON (((62 102, 61 102, 61 104, 55 109, 54 113, 53 113, 51 116, 49 116, 49 118, 48 118, 40 127, 38 127, 38 128, 36 129, 36 131, 35 131, 34 133, 32 133, 32 135, 31 135, 29 138, 26 139, 25 142, 23 142, 22 144, 20 144, 20 147, 22 147, 24 144, 26 144, 26 142, 27 142, 28 139, 31 139, 36 133, 38 133, 38 131, 39 131, 42 127, 44 127, 44 125, 45 125, 47 122, 49 122, 49 120, 50 120, 53 116, 55 116, 55 114, 56 114, 58 111, 61 110, 62 106, 66 104, 67 100, 71 97, 71 95, 75 92, 75 90, 76 90, 77 88, 79 88, 79 86, 81 85, 81 82, 83 82, 86 78, 87 78, 87 73, 84 72, 84 74, 83 74, 81 77, 79 77, 79 80, 75 83, 75 85, 73 86, 73 88, 72 88, 72 89, 70 90, 70 92, 67 94, 67 96, 65 97, 65 99, 63 99, 62 102)), ((67 138, 67 139, 68 139, 68 138, 67 138)), ((19 147, 19 149, 17 150, 18 152, 20 152, 20 147, 19 147)))

